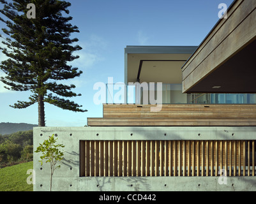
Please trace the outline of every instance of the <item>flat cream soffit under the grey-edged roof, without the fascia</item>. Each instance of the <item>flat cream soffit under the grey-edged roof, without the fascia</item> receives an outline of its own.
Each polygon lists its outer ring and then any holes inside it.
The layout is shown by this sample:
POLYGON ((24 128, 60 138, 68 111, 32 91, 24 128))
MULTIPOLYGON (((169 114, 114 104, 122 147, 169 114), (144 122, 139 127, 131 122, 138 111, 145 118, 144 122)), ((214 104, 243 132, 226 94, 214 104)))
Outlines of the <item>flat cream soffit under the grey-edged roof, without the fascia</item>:
POLYGON ((137 81, 140 68, 140 83, 181 84, 181 68, 191 54, 128 54, 127 82, 137 81))

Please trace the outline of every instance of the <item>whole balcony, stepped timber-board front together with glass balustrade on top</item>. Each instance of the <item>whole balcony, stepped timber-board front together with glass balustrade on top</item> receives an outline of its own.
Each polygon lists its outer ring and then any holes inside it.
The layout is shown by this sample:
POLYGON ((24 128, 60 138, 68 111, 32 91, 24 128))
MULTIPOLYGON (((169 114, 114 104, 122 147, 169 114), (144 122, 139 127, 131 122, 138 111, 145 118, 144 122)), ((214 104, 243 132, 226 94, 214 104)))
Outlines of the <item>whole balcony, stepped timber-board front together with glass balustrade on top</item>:
POLYGON ((183 94, 181 84, 107 84, 88 126, 256 126, 255 94, 183 94), (160 90, 160 91, 159 91, 160 90))

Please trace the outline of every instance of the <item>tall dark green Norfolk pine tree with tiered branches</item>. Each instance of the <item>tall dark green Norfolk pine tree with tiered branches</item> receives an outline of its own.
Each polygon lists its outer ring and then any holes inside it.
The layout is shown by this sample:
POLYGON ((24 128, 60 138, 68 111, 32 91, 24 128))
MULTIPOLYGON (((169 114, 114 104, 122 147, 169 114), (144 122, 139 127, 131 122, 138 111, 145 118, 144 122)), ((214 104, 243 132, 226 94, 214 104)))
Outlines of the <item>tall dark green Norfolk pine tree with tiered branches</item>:
POLYGON ((57 0, 13 0, 11 3, 0 0, 0 4, 4 5, 0 9, 4 18, 0 20, 8 27, 2 29, 8 37, 0 35, 2 43, 8 47, 1 48, 8 59, 0 64, 6 73, 0 80, 11 91, 32 92, 29 101, 17 101, 11 107, 27 108, 38 103, 40 127, 45 126, 45 103, 73 112, 87 112, 81 105, 65 99, 81 96, 71 91, 75 85, 56 83, 82 74, 78 68, 67 64, 78 59, 79 56, 72 53, 82 49, 73 45, 79 41, 77 38, 70 38, 72 33, 79 33, 78 27, 69 23, 72 17, 63 16, 63 12, 69 13, 71 4, 57 0), (36 18, 27 18, 29 3, 36 6, 36 18))

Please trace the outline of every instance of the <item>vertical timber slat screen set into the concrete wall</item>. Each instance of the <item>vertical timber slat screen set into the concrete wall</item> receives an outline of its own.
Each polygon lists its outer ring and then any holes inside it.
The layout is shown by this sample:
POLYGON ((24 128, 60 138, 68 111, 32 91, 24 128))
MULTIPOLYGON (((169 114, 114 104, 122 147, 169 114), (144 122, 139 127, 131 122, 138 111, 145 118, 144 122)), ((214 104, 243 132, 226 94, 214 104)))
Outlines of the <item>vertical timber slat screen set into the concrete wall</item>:
POLYGON ((254 176, 255 140, 80 140, 80 177, 254 176))

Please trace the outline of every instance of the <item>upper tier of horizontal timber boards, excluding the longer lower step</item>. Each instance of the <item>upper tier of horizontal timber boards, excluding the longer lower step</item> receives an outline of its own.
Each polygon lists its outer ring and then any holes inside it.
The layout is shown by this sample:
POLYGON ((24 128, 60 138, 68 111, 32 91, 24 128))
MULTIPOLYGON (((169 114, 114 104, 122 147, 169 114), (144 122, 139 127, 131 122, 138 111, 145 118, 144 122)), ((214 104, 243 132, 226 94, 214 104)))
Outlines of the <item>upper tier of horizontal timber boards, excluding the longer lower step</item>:
POLYGON ((256 118, 256 105, 162 105, 153 112, 156 105, 103 105, 103 118, 174 117, 174 118, 256 118))

